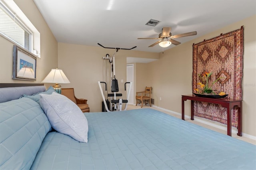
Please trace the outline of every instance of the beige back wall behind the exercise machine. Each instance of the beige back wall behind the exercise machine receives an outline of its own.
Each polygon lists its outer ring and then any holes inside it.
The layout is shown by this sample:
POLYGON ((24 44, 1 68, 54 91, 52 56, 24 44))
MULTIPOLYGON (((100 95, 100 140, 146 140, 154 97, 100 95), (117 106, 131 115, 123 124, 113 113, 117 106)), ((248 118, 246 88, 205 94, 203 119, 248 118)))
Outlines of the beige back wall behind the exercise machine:
MULTIPOLYGON (((58 43, 58 67, 64 71, 70 81, 70 84, 62 84, 62 87, 73 87, 76 97, 87 99, 90 112, 101 111, 102 96, 98 81, 104 81, 104 59, 102 57, 106 56, 107 53, 111 57, 114 52, 115 49, 58 43)), ((119 87, 118 93, 122 93, 123 99, 126 99, 126 91, 124 91, 124 83, 126 82, 126 57, 158 59, 159 54, 136 51, 134 49, 119 50, 115 54, 116 78, 118 79, 119 87), (121 83, 122 79, 124 80, 123 83, 121 83)))

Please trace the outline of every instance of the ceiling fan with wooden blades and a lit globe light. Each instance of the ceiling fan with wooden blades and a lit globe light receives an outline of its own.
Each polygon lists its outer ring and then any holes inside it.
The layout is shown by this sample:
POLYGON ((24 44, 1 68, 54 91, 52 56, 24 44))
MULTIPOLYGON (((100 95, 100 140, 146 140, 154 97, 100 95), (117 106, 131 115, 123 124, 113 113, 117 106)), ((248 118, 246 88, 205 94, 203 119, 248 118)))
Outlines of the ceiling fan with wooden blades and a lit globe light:
POLYGON ((169 45, 174 44, 174 45, 179 45, 180 42, 173 40, 175 38, 181 38, 181 37, 187 37, 187 36, 194 36, 197 34, 196 31, 194 32, 187 32, 184 34, 177 34, 172 36, 172 33, 170 33, 171 27, 163 27, 163 32, 159 34, 158 38, 138 38, 138 39, 158 39, 158 42, 153 43, 152 45, 148 47, 153 47, 154 45, 158 44, 161 47, 168 47, 169 45))

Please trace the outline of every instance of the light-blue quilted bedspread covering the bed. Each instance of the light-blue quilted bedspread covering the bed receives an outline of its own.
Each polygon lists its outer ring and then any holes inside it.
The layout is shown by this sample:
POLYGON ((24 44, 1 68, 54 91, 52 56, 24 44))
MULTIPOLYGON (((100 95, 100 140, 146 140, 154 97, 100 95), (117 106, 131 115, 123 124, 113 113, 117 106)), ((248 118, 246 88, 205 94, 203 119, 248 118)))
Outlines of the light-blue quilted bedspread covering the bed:
POLYGON ((85 116, 88 143, 50 132, 32 169, 256 169, 255 145, 154 109, 85 116))

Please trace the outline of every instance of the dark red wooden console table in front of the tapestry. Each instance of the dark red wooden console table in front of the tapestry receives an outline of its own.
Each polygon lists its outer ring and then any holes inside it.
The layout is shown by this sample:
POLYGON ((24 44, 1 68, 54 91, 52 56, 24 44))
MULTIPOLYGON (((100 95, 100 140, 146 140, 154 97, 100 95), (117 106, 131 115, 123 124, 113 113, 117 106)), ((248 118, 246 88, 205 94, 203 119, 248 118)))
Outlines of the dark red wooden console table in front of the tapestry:
POLYGON ((191 100, 191 120, 194 120, 194 101, 202 101, 207 103, 220 104, 227 108, 227 134, 231 136, 231 110, 234 106, 238 106, 238 136, 242 136, 242 100, 233 100, 225 98, 207 98, 195 95, 182 95, 182 120, 184 118, 184 101, 191 100))

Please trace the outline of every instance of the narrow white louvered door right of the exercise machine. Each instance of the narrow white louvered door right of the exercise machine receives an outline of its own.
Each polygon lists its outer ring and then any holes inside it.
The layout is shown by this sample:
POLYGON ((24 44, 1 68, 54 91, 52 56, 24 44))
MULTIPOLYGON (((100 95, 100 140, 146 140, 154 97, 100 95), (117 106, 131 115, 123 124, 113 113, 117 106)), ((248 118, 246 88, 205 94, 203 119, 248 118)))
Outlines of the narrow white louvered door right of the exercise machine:
MULTIPOLYGON (((126 65, 126 82, 132 82, 132 87, 130 91, 130 97, 128 99, 128 105, 134 105, 134 64, 126 65)), ((130 88, 130 84, 127 85, 127 89, 130 88)), ((128 91, 126 91, 128 95, 128 91)))

